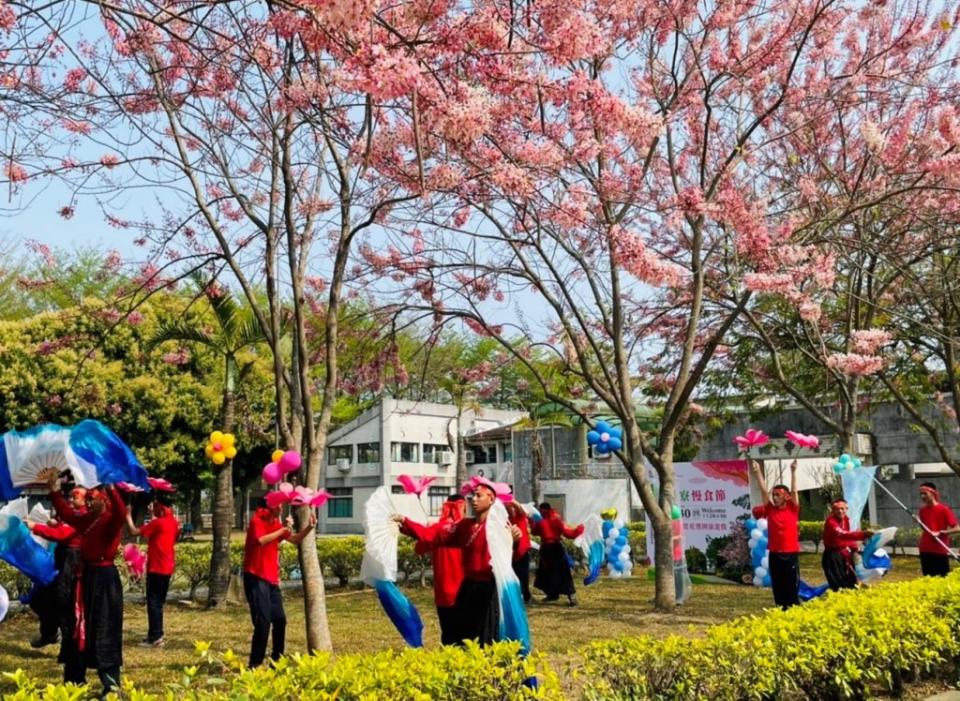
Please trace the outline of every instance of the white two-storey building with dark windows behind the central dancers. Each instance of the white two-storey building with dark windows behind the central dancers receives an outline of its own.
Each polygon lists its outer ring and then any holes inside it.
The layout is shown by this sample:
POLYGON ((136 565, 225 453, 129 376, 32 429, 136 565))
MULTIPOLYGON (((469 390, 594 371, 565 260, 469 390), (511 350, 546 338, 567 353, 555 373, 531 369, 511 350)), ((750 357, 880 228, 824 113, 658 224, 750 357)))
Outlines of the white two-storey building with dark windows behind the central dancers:
MULTIPOLYGON (((459 430, 469 436, 515 423, 521 411, 464 410, 459 430)), ((381 485, 393 489, 393 502, 407 516, 425 520, 459 485, 456 481, 457 408, 448 404, 383 399, 350 423, 332 431, 324 460, 324 486, 331 493, 321 509, 320 532, 362 533, 363 505, 381 485), (402 474, 436 477, 420 505, 397 483, 402 474)), ((471 474, 481 470, 495 479, 512 474, 510 433, 485 440, 465 452, 471 474)))

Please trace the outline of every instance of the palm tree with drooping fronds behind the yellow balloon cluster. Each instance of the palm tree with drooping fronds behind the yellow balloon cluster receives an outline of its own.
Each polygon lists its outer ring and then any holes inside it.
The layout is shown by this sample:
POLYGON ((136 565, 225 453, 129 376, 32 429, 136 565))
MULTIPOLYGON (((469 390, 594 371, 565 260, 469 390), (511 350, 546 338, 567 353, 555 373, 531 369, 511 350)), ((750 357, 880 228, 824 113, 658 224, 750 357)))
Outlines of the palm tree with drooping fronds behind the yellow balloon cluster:
MULTIPOLYGON (((148 348, 176 341, 202 346, 223 360, 223 399, 220 406, 220 430, 232 433, 237 384, 253 366, 241 365, 237 355, 266 342, 266 335, 257 317, 248 306, 240 304, 232 294, 214 281, 195 280, 209 303, 214 327, 202 327, 191 319, 167 320, 150 340, 148 348)), ((233 461, 214 465, 213 487, 213 555, 210 558, 210 589, 207 606, 223 606, 230 584, 230 532, 235 518, 233 504, 233 461)))

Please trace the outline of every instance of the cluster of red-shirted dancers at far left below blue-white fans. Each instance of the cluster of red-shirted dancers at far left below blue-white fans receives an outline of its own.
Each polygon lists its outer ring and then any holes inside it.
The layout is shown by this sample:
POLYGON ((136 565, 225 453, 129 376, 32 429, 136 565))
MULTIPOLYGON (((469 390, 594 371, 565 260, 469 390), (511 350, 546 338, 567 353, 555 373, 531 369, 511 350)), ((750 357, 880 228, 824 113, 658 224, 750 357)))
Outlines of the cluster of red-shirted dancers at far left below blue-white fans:
POLYGON ((59 640, 63 680, 85 684, 87 670, 95 669, 106 694, 119 688, 123 666, 123 585, 114 561, 124 527, 147 540, 148 631, 141 644, 160 647, 180 526, 163 493, 153 495, 150 522, 137 527, 116 486, 65 488, 53 469, 44 470, 41 479, 49 487, 55 517, 26 525, 56 544, 57 576, 33 592, 30 605, 40 618, 40 635, 31 645, 59 640))

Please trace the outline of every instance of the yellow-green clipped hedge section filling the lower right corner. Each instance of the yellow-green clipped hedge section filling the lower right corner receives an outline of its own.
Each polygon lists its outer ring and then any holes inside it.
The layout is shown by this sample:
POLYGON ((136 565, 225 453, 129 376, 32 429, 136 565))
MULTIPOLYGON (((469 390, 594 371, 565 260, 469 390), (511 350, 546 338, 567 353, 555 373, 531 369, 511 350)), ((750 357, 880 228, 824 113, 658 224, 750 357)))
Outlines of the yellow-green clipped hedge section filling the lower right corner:
POLYGON ((960 653, 960 577, 841 592, 715 626, 704 638, 591 644, 587 701, 853 699, 899 689, 960 653))

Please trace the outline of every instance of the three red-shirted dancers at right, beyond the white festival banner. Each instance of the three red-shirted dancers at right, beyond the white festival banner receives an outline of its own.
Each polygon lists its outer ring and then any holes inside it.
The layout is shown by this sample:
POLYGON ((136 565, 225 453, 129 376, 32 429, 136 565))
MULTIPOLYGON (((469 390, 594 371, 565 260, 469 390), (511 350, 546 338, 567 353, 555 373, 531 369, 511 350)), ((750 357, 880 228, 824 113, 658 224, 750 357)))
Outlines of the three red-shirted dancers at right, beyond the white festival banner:
MULTIPOLYGON (((800 500, 797 492, 797 461, 790 464, 790 487, 777 484, 767 490, 760 463, 750 461, 762 503, 754 507, 754 518, 767 519, 769 533, 769 572, 774 603, 787 609, 800 603, 800 500)), ((921 508, 914 517, 920 525, 917 544, 920 552, 920 571, 925 576, 943 577, 950 572, 949 547, 952 534, 960 533, 960 525, 953 510, 940 501, 940 494, 932 482, 919 488, 921 508)), ((854 529, 847 516, 847 503, 836 499, 830 504, 830 515, 823 524, 823 556, 821 565, 832 591, 857 586, 856 560, 858 550, 873 531, 854 529)))

